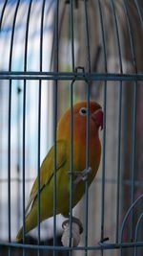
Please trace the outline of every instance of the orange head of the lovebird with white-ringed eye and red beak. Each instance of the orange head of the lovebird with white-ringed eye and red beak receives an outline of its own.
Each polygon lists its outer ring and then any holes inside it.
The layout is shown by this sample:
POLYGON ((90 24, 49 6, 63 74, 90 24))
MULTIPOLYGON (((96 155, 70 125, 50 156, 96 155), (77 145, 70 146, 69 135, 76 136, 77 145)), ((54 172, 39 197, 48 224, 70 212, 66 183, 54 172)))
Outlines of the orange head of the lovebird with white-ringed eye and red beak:
MULTIPOLYGON (((100 105, 90 101, 90 139, 98 137, 99 128, 103 128, 103 111, 100 105)), ((70 139, 71 128, 73 139, 86 143, 88 106, 87 102, 79 102, 62 115, 57 128, 57 139, 70 139), (71 127, 72 114, 72 127, 71 127)))

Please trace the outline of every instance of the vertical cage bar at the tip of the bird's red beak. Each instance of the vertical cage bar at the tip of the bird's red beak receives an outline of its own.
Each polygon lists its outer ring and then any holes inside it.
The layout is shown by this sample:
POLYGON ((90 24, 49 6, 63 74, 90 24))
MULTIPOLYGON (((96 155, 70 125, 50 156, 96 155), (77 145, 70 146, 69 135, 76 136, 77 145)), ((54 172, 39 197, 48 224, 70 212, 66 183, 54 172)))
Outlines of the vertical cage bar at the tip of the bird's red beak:
MULTIPOLYGON (((101 2, 98 0, 98 9, 99 9, 99 18, 101 24, 101 36, 103 43, 103 53, 104 53, 104 64, 105 64, 105 72, 107 73, 107 50, 105 43, 105 32, 104 32, 104 23, 103 23, 103 14, 101 8, 101 2)), ((104 213, 105 213, 105 147, 106 147, 106 106, 107 106, 107 81, 104 83, 104 95, 103 95, 103 143, 102 143, 102 191, 101 191, 101 242, 104 242, 104 213)), ((103 255, 104 251, 101 249, 101 255, 103 255)))

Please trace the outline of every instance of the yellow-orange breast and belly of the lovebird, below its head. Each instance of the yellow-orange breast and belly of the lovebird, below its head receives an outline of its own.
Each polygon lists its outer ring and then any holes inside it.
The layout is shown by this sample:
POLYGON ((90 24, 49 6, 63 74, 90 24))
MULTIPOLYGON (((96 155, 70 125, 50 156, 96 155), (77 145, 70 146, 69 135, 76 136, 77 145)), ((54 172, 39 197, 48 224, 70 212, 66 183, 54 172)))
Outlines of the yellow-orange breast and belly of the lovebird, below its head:
MULTIPOLYGON (((97 139, 89 145, 89 167, 92 168, 92 172, 88 176, 88 184, 92 183, 92 179, 96 175, 96 172, 100 163, 101 146, 100 141, 97 139), (98 145, 96 145, 98 144, 98 145), (95 147, 97 146, 97 147, 95 147)), ((73 142, 73 153, 72 153, 72 175, 69 174, 71 171, 71 146, 68 143, 67 158, 65 165, 57 172, 56 175, 56 189, 57 193, 57 211, 67 215, 70 210, 70 197, 72 193, 72 207, 82 198, 85 192, 85 181, 81 180, 79 183, 74 184, 76 175, 74 171, 80 172, 86 169, 86 146, 83 145, 81 148, 78 142, 73 142), (72 192, 71 192, 71 177, 72 177, 72 192), (58 203, 60 202, 60 203, 58 203), (62 205, 61 205, 62 202, 62 205)))

